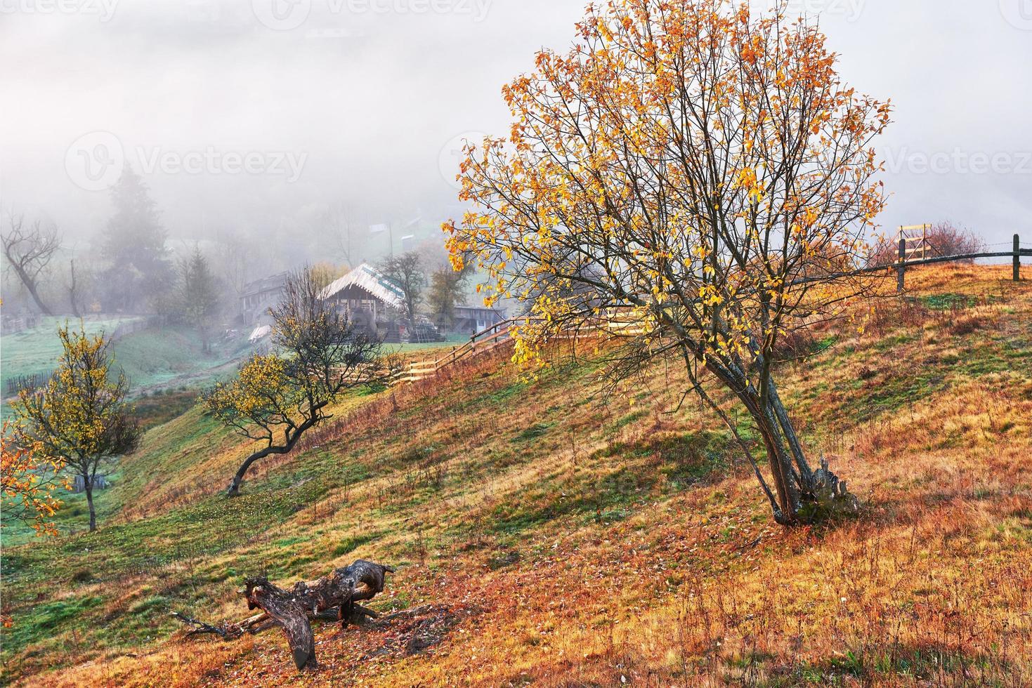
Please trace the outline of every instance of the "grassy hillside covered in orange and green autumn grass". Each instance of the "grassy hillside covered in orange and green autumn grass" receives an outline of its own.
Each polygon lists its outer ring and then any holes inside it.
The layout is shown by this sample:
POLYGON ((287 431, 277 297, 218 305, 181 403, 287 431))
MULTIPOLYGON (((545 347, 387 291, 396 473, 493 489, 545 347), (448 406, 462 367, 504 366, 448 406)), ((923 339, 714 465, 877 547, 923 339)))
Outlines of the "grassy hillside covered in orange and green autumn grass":
MULTIPOLYGON (((1026 277, 1032 274, 1026 270, 1026 277)), ((608 400, 590 365, 504 357, 356 397, 218 494, 247 446, 197 411, 149 431, 102 530, 7 548, 6 680, 32 685, 1032 683, 1032 286, 908 273, 863 334, 779 370, 856 520, 773 525, 729 433, 656 366, 608 400), (250 575, 398 566, 385 627, 186 640, 178 610, 247 616, 250 575)), ((742 431, 751 436, 742 421, 742 431)), ((73 506, 74 507, 74 506, 73 506)), ((66 515, 63 523, 82 516, 66 515)))

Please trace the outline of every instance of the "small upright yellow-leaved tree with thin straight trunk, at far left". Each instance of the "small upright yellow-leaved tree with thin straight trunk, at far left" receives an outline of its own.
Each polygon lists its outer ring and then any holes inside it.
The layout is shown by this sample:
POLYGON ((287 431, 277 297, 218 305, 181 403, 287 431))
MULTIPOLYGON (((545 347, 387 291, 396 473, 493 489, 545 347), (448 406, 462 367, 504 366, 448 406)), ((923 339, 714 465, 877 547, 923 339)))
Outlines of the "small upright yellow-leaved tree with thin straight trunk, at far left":
POLYGON ((58 330, 62 354, 46 385, 23 390, 12 406, 17 440, 83 481, 90 530, 97 529, 93 489, 105 462, 132 453, 139 428, 125 401, 128 383, 111 370, 114 358, 103 334, 90 336, 67 326, 58 330))

